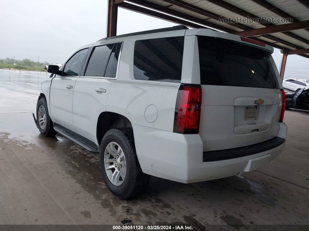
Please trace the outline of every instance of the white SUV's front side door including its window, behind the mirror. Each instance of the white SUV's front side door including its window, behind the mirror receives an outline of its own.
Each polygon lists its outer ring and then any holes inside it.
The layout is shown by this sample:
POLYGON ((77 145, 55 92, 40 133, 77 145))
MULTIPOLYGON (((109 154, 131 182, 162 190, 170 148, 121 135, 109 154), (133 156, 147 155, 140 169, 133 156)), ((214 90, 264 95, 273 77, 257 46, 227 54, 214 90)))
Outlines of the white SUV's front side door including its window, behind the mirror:
POLYGON ((73 126, 73 90, 80 75, 88 48, 76 52, 64 64, 62 75, 56 75, 50 86, 50 117, 53 122, 75 131, 73 126))

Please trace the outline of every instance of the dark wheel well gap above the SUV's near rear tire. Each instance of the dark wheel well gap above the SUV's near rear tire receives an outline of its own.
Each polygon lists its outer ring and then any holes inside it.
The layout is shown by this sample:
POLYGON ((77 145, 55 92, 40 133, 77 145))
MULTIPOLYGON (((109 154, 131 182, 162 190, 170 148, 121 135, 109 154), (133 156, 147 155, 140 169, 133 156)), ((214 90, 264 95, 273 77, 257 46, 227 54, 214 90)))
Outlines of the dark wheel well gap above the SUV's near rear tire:
POLYGON ((109 111, 100 113, 96 127, 96 138, 98 144, 101 144, 104 134, 108 130, 119 127, 130 127, 133 129, 131 121, 124 115, 109 111))

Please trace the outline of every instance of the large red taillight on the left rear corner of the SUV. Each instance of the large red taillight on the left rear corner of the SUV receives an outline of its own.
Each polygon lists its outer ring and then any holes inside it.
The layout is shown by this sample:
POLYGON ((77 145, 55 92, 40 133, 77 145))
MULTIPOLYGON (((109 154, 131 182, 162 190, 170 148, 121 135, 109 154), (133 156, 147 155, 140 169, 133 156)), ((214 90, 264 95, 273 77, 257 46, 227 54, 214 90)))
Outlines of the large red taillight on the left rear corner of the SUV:
POLYGON ((174 132, 181 134, 198 134, 201 116, 201 101, 201 85, 180 85, 175 106, 174 132))

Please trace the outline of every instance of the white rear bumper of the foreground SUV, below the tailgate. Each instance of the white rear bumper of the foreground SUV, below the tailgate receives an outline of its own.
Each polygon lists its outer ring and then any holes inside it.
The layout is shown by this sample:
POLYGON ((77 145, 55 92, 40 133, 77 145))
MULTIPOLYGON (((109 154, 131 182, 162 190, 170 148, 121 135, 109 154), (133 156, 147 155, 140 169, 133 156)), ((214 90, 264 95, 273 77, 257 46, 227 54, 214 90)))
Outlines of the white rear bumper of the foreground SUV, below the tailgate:
MULTIPOLYGON (((285 123, 280 123, 278 137, 285 139, 286 130, 285 123)), ((282 142, 251 155, 203 162, 203 142, 199 134, 177 134, 138 125, 133 125, 133 132, 142 171, 182 183, 224 178, 255 170, 275 159, 285 145, 282 142)))

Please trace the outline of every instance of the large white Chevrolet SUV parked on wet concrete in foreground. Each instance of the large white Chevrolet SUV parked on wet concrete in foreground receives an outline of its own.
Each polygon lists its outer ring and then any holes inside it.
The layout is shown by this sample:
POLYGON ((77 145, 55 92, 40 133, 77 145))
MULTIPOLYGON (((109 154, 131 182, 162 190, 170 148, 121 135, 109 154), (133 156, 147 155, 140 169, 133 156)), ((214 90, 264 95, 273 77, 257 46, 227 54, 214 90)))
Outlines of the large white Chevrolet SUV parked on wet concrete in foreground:
POLYGON ((265 166, 282 151, 285 95, 273 48, 176 26, 79 48, 42 83, 41 134, 99 153, 119 198, 150 175, 193 183, 265 166))

